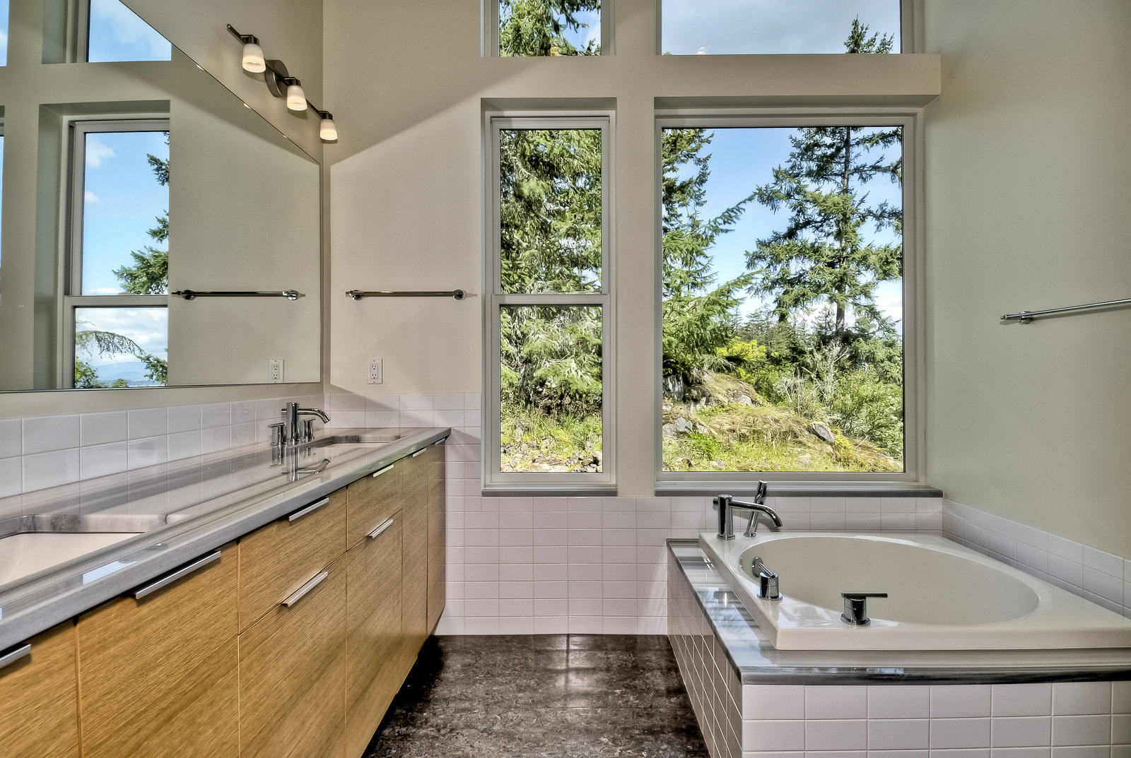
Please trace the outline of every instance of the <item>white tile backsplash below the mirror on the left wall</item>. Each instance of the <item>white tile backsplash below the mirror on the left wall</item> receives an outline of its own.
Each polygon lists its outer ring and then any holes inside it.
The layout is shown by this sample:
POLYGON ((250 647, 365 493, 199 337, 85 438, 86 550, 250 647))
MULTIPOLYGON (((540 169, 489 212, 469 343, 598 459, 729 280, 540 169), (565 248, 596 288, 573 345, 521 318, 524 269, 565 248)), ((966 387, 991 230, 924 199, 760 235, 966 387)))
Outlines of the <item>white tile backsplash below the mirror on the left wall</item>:
POLYGON ((288 400, 309 408, 325 397, 0 419, 0 497, 266 444, 288 400))

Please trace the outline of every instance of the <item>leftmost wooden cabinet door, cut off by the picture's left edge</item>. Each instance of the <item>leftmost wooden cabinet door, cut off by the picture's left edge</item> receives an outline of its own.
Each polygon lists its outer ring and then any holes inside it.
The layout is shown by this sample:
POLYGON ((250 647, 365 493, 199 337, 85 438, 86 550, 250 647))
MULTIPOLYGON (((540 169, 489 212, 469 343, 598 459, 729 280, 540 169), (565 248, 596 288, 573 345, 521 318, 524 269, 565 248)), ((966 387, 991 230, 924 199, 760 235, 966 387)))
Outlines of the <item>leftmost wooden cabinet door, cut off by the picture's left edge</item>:
MULTIPOLYGON (((60 624, 28 644, 29 654, 0 668, 0 752, 78 758, 75 624, 60 624)), ((21 648, 5 652, 15 657, 21 648)))

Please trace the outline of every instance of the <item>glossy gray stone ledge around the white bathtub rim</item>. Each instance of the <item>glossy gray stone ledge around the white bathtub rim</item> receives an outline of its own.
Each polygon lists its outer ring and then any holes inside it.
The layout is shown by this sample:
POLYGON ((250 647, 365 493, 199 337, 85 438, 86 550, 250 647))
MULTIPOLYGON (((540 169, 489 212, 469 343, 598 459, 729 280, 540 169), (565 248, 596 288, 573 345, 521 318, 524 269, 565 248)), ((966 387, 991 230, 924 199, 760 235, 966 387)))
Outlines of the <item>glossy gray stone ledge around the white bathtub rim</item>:
POLYGON ((697 540, 667 548, 744 685, 990 685, 1131 679, 1126 650, 777 650, 697 540))

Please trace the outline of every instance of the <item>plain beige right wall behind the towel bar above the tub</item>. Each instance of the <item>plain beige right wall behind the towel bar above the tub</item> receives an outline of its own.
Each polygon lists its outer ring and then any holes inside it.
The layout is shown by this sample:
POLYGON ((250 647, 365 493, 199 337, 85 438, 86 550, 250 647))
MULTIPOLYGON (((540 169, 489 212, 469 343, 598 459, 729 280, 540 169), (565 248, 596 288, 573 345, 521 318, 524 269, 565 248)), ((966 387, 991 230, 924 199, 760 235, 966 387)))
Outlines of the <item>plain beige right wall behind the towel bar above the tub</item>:
POLYGON ((1131 556, 1131 5, 925 6, 929 481, 1131 556))

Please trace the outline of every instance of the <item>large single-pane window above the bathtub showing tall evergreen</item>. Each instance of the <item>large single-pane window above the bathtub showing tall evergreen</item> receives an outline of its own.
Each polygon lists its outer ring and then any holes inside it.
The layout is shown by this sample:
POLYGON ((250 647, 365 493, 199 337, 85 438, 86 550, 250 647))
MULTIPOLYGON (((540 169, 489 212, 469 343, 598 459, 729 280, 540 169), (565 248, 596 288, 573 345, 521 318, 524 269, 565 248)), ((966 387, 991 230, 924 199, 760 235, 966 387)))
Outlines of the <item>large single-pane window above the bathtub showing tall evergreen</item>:
POLYGON ((912 478, 914 117, 658 132, 661 480, 912 478))

